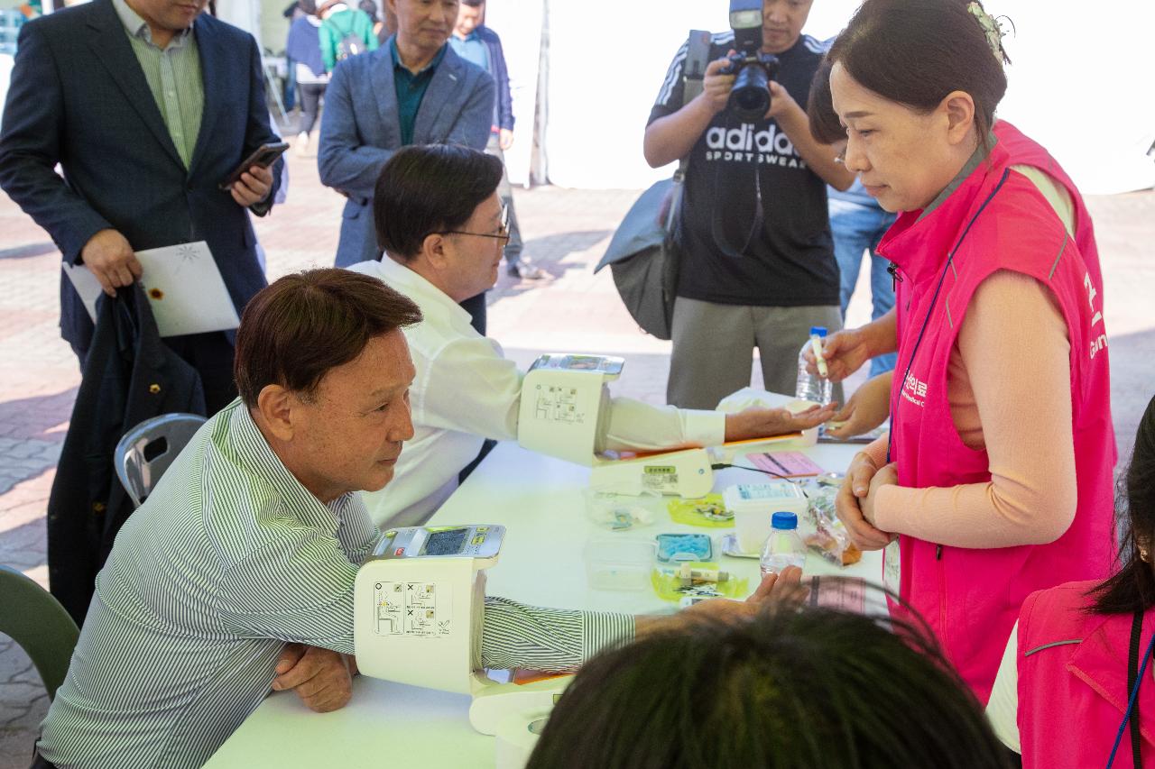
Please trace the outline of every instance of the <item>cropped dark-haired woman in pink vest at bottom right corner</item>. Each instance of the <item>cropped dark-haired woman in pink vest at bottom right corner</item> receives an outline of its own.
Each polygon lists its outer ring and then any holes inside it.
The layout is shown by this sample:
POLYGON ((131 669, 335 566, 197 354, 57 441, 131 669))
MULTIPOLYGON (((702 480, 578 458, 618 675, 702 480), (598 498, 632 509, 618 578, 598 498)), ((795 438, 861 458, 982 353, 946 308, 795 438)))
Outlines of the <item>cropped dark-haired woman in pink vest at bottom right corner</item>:
POLYGON ((1027 769, 1155 764, 1155 400, 1119 508, 1119 572, 1033 593, 1003 657, 986 712, 1027 769))

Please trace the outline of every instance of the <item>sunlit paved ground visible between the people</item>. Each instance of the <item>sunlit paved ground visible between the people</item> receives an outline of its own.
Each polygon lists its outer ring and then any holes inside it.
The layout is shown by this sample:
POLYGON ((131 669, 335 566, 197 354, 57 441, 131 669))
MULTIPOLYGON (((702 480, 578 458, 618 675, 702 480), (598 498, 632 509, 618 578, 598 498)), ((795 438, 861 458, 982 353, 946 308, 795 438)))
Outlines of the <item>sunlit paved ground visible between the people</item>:
MULTIPOLYGON (((313 160, 290 157, 290 202, 256 223, 270 278, 329 264, 337 241, 342 199, 319 185, 313 160)), ((521 361, 550 350, 626 354, 628 365, 616 391, 664 402, 669 343, 641 334, 608 271, 593 274, 635 195, 519 191, 526 254, 544 266, 550 278, 530 283, 502 275, 490 296, 490 335, 521 361)), ((1115 423, 1126 449, 1155 389, 1155 260, 1149 253, 1155 193, 1088 202, 1106 275, 1115 423)), ((44 231, 2 194, 0 233, 0 563, 46 584, 44 510, 80 375, 57 329, 59 254, 44 231)), ((851 324, 867 319, 865 278, 864 271, 849 313, 851 324)), ((1029 341, 1023 350, 1029 354, 1029 341)), ((0 769, 27 766, 47 707, 35 670, 13 645, 0 636, 0 769)))

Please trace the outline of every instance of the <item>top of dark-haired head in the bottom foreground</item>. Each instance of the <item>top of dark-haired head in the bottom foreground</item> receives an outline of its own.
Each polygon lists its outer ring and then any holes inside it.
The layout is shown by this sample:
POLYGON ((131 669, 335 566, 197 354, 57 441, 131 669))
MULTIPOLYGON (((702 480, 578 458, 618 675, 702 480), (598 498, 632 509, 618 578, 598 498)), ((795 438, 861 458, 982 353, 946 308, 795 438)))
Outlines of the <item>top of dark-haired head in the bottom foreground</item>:
POLYGON ((527 769, 1008 767, 930 637, 783 605, 647 636, 582 666, 527 769))

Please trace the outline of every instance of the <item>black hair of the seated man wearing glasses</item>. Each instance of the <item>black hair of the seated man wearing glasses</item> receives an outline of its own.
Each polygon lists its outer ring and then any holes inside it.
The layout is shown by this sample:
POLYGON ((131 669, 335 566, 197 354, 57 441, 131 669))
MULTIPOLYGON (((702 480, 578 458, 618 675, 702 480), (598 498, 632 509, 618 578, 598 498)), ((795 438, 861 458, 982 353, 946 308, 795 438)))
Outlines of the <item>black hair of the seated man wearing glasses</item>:
POLYGON ((409 260, 434 232, 457 230, 501 182, 501 160, 457 144, 403 147, 381 169, 373 224, 382 249, 409 260))

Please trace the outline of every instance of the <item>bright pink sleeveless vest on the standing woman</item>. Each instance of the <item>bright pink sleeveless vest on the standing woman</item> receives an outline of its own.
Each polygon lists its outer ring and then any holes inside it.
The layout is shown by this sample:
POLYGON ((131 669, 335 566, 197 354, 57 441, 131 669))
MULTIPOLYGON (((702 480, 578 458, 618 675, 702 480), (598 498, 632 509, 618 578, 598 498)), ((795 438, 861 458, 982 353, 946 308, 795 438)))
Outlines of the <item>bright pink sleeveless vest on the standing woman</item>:
MULTIPOLYGON (((984 278, 999 269, 1034 277, 1057 298, 1067 324, 1079 478, 1071 528, 1048 545, 991 550, 899 539, 900 595, 930 624, 981 702, 990 696, 1023 599, 1063 582, 1105 577, 1113 553, 1116 449, 1102 286, 1035 186, 1009 170, 1023 162, 999 142, 921 221, 922 211, 902 214, 878 247, 899 266, 902 278, 896 301, 899 359, 891 395, 891 458, 897 463, 902 486, 990 480, 986 451, 962 442, 947 401, 951 350, 984 278)), ((1071 192, 1078 200, 1078 192, 1071 192)), ((1030 354, 1030 344, 1022 341, 1022 354, 1030 354)), ((892 554, 885 555, 888 569, 892 554)))

